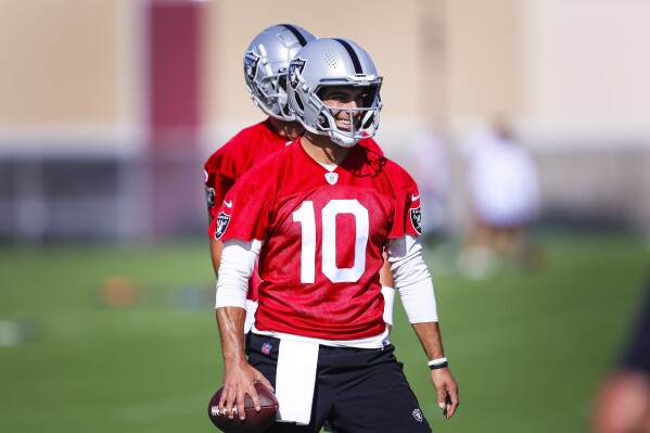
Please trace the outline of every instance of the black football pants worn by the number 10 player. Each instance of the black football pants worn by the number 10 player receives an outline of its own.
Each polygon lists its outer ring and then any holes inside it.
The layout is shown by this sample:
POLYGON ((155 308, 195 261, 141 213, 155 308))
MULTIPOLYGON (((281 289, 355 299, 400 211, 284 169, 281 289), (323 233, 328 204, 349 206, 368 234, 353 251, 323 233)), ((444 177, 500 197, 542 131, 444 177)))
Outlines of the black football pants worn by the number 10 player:
MULTIPOLYGON (((276 386, 280 340, 252 334, 248 362, 276 386)), ((320 346, 311 422, 276 422, 271 433, 431 432, 392 344, 379 349, 320 346)))

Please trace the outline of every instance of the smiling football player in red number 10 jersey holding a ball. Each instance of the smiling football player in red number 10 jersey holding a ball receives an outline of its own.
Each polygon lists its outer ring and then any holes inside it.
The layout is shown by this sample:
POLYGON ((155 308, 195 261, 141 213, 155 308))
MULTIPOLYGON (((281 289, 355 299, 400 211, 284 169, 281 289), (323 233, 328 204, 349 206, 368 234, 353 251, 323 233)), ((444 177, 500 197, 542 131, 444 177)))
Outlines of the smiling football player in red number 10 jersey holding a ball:
POLYGON ((226 194, 217 320, 225 362, 219 411, 259 405, 275 386, 270 432, 431 432, 383 320, 387 252, 447 418, 458 385, 443 349, 431 275, 419 243, 420 194, 397 164, 356 145, 380 123, 382 77, 347 39, 316 39, 289 67, 288 99, 305 133, 260 162, 226 194), (259 264, 259 306, 246 358, 246 282, 259 264), (381 396, 378 398, 378 396, 381 396))

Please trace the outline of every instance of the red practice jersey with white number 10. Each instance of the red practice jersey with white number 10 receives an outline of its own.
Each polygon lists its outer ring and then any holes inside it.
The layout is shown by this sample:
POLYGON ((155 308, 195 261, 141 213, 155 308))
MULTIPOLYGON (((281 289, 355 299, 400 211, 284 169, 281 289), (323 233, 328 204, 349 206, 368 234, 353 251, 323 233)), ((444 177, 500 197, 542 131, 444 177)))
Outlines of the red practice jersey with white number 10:
POLYGON ((330 173, 298 139, 246 173, 215 220, 217 239, 264 242, 257 329, 356 340, 384 331, 384 242, 419 235, 420 198, 373 151, 355 145, 330 173))

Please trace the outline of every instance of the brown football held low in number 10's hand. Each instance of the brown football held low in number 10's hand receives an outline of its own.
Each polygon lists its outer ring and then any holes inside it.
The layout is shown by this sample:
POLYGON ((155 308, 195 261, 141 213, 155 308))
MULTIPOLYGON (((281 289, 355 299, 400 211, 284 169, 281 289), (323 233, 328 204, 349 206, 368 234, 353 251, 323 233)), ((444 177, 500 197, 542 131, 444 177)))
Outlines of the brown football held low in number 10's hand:
POLYGON ((278 399, 276 398, 276 394, 273 394, 269 387, 266 387, 262 383, 255 383, 255 391, 257 391, 259 404, 262 406, 259 412, 255 410, 253 398, 251 398, 248 394, 245 395, 244 410, 246 411, 246 419, 243 421, 241 421, 237 415, 232 419, 229 419, 225 415, 217 415, 222 391, 224 387, 220 387, 209 399, 209 405, 207 406, 207 415, 211 421, 222 432, 262 433, 276 421, 278 399))

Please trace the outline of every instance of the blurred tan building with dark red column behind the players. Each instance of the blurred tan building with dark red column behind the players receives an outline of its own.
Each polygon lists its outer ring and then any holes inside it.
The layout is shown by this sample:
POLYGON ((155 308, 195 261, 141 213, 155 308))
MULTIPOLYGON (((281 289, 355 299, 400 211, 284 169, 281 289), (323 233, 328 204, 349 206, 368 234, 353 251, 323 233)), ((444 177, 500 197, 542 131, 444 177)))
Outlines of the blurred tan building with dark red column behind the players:
POLYGON ((377 139, 388 156, 415 169, 421 131, 444 135, 448 229, 467 221, 459 143, 495 115, 537 160, 541 220, 650 227, 649 2, 345 8, 0 0, 0 239, 203 231, 203 160, 263 118, 242 55, 276 23, 369 51, 385 77, 377 139))

